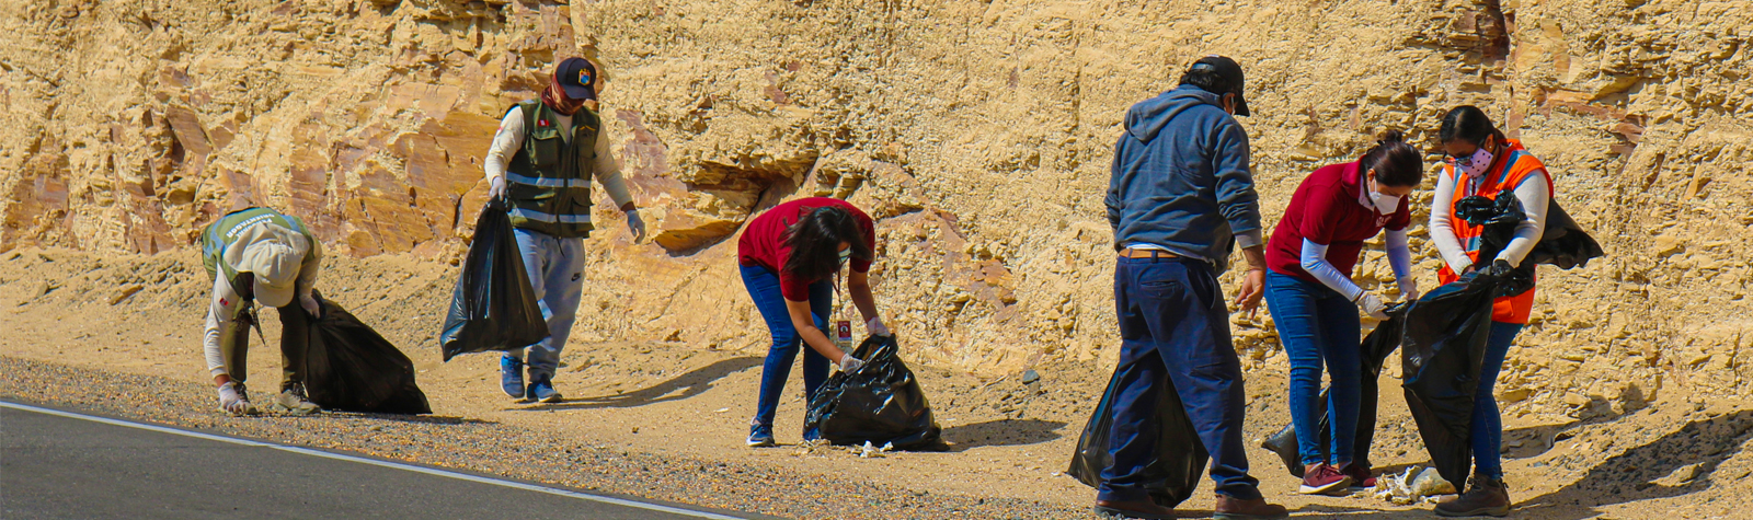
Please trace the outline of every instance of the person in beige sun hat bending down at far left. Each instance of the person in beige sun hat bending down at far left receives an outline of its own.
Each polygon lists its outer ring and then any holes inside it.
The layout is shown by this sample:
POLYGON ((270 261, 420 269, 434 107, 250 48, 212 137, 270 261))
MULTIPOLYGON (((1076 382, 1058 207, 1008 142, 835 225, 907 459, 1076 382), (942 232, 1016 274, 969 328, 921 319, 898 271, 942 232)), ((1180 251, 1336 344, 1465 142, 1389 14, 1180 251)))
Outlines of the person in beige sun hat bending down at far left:
POLYGON ((219 410, 256 413, 244 389, 249 327, 258 326, 254 301, 280 310, 284 378, 273 408, 291 415, 321 411, 303 383, 309 320, 321 312, 310 294, 323 264, 316 236, 296 217, 270 208, 237 210, 202 229, 202 264, 214 280, 202 347, 219 387, 219 410))

